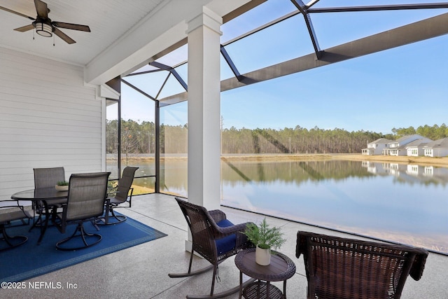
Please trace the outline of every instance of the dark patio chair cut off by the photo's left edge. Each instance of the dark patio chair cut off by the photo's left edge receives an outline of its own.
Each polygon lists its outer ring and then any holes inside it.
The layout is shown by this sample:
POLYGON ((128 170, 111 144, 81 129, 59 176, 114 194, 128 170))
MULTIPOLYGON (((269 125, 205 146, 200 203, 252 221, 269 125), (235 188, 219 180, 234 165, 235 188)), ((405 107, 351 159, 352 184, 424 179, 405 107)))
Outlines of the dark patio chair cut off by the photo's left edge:
POLYGON ((10 236, 8 232, 6 232, 6 228, 13 221, 20 220, 20 225, 29 224, 29 219, 32 218, 31 214, 19 204, 19 202, 14 200, 5 200, 0 202, 0 231, 3 237, 3 241, 6 242, 6 246, 0 246, 0 251, 4 251, 6 249, 11 249, 17 246, 20 246, 27 242, 28 237, 24 235, 10 236), (13 204, 16 203, 16 204, 13 204), (27 221, 25 221, 27 219, 27 221))

